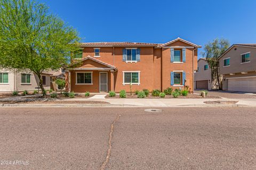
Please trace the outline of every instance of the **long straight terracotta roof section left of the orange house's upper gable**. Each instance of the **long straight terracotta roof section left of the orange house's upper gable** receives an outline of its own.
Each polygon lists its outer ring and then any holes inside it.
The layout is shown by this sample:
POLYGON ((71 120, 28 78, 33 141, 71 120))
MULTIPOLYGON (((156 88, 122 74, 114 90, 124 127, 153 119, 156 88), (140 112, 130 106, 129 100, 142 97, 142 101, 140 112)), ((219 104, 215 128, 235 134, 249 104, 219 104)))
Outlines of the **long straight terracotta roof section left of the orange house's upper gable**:
POLYGON ((81 47, 92 46, 157 46, 161 44, 156 43, 133 43, 133 42, 95 42, 95 43, 80 43, 81 47))

